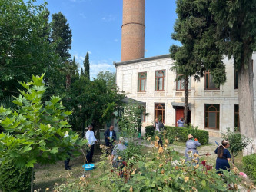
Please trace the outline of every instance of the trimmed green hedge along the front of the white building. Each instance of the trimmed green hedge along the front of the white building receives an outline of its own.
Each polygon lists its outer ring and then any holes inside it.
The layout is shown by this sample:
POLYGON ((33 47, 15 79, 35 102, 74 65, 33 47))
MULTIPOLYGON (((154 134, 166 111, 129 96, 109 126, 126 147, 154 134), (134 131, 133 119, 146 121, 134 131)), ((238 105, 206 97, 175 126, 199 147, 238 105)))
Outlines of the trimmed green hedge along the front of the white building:
MULTIPOLYGON (((170 127, 165 126, 165 130, 167 131, 167 137, 174 138, 178 137, 179 141, 188 141, 188 134, 192 134, 194 138, 197 138, 201 144, 208 144, 209 142, 209 133, 205 130, 200 130, 196 128, 188 128, 188 127, 170 127)), ((150 125, 145 127, 146 137, 154 135, 154 126, 150 125)))

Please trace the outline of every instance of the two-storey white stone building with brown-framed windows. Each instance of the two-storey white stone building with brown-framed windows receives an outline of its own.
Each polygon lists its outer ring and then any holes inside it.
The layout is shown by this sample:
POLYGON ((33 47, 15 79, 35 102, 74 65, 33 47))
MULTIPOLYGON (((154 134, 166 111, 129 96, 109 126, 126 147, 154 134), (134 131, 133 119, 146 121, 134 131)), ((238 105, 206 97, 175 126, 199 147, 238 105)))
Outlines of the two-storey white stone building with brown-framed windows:
MULTIPOLYGON (((252 65, 256 70, 256 54, 252 65)), ((116 82, 120 91, 128 98, 145 102, 146 112, 143 127, 151 125, 155 118, 161 118, 165 125, 175 126, 184 116, 184 90, 181 81, 175 81, 171 71, 174 61, 170 55, 141 58, 132 61, 114 62, 116 82)), ((205 73, 201 81, 191 78, 188 98, 188 120, 199 129, 209 131, 211 136, 220 136, 227 127, 239 127, 238 80, 232 60, 224 58, 227 81, 220 88, 211 82, 211 74, 205 73)), ((254 78, 254 101, 256 81, 254 78)), ((143 131, 142 131, 143 133, 143 131)))

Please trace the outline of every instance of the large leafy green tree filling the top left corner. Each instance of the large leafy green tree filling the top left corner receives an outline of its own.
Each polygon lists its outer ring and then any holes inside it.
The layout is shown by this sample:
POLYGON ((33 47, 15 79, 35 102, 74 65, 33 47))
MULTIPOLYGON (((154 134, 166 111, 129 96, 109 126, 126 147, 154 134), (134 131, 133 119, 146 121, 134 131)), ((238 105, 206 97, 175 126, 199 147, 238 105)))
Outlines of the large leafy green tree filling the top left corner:
POLYGON ((59 56, 50 43, 48 10, 34 1, 0 0, 0 98, 18 95, 32 74, 49 73, 58 68, 59 56))

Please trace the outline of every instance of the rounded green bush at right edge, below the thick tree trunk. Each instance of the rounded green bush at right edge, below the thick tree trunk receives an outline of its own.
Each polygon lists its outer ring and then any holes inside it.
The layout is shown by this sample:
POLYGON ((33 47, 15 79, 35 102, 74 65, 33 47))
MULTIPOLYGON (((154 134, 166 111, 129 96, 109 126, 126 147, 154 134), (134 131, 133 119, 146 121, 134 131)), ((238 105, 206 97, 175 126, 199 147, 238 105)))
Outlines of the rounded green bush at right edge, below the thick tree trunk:
POLYGON ((244 171, 256 182, 256 154, 243 157, 244 171))

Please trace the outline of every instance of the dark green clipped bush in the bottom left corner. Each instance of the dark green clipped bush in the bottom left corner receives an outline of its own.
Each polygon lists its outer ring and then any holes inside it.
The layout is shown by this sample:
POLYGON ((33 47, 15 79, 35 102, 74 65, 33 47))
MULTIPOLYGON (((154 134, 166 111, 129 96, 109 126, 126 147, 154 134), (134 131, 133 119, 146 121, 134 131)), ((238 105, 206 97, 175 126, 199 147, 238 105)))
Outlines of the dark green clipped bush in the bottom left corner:
POLYGON ((0 168, 0 189, 3 191, 29 191, 32 168, 17 168, 11 162, 0 168))

